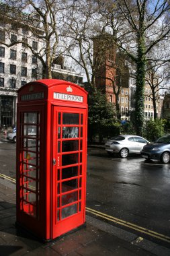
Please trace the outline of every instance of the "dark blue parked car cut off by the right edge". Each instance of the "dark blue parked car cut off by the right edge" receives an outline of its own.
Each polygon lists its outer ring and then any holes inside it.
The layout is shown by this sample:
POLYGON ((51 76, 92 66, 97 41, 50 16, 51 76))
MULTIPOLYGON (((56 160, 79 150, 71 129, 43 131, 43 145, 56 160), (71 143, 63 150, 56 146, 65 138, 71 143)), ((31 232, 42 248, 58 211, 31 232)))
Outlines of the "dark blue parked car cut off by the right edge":
POLYGON ((144 146, 141 150, 141 156, 145 159, 161 160, 163 164, 170 160, 170 135, 160 137, 155 143, 144 146))

